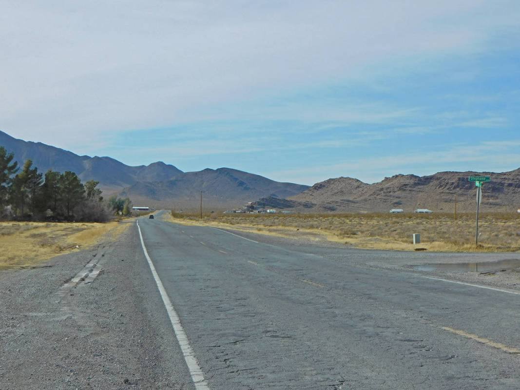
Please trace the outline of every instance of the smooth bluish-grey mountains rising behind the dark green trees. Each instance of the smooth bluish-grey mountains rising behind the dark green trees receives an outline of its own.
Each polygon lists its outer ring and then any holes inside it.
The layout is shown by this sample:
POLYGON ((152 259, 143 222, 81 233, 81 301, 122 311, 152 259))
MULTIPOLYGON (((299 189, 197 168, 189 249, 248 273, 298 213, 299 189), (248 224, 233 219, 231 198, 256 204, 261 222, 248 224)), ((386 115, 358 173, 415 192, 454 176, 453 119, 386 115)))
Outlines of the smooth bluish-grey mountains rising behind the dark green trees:
POLYGON ((16 139, 1 131, 0 146, 13 152, 20 165, 31 159, 40 172, 72 171, 82 181, 99 181, 105 194, 121 194, 130 197, 134 204, 156 208, 196 208, 200 191, 207 206, 237 207, 262 197, 291 197, 308 188, 231 168, 183 172, 161 161, 129 166, 110 157, 77 155, 41 142, 16 139))

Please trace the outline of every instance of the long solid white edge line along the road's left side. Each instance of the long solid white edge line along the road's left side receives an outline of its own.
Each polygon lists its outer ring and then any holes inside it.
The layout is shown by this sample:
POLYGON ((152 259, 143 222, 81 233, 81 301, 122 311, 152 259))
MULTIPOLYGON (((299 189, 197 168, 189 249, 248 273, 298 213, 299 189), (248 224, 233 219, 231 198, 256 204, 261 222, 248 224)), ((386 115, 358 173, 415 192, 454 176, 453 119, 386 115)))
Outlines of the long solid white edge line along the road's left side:
POLYGON ((173 307, 172 301, 170 301, 170 297, 168 297, 168 293, 164 289, 164 285, 161 282, 161 278, 159 278, 159 274, 153 266, 152 259, 148 255, 148 251, 146 250, 145 246, 145 241, 142 239, 141 228, 139 227, 139 220, 137 220, 137 229, 139 230, 139 237, 141 238, 142 251, 145 253, 145 257, 148 261, 148 265, 150 266, 150 270, 152 271, 153 278, 155 279, 155 283, 157 284, 157 288, 159 289, 159 293, 161 294, 164 306, 166 307, 166 311, 168 312, 168 317, 170 317, 170 322, 172 323, 172 327, 175 332, 175 336, 177 337, 180 349, 183 352, 184 360, 186 361, 186 365, 188 366, 188 370, 190 371, 193 384, 195 385, 195 388, 197 390, 210 390, 210 387, 207 385, 207 382, 204 379, 204 373, 202 372, 197 358, 193 353, 193 349, 190 346, 188 336, 186 335, 186 332, 184 331, 184 328, 180 323, 180 318, 173 307))

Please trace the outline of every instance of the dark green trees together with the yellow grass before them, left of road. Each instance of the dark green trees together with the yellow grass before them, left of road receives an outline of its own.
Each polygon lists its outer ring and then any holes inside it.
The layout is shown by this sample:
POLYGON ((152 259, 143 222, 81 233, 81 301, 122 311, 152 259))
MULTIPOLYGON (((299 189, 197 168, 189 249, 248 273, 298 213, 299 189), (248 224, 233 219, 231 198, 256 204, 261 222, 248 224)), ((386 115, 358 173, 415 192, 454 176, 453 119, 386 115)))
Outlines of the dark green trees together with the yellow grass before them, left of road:
POLYGON ((20 168, 0 146, 0 270, 34 267, 59 254, 117 237, 129 224, 129 199, 104 200, 98 181, 85 184, 73 172, 20 168), (112 222, 108 222, 112 221, 112 222))

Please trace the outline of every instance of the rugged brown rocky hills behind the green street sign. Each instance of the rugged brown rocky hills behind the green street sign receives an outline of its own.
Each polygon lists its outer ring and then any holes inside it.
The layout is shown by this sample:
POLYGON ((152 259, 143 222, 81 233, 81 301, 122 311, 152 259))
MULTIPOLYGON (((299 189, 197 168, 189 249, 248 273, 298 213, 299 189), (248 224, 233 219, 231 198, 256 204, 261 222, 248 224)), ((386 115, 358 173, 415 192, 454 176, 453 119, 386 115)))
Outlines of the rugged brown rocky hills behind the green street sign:
POLYGON ((388 212, 418 208, 434 212, 475 210, 472 175, 490 176, 483 187, 482 210, 516 211, 520 207, 520 168, 510 172, 439 172, 430 176, 395 175, 367 184, 350 177, 328 179, 288 199, 264 198, 267 207, 301 212, 388 212))

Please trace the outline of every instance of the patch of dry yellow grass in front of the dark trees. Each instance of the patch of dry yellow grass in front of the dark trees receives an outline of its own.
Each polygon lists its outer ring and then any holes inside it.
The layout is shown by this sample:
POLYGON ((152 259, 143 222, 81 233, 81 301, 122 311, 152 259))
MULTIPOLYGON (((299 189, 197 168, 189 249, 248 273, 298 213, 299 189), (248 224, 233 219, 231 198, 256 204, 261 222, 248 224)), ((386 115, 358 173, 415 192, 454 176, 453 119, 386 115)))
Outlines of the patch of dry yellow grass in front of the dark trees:
POLYGON ((116 239, 129 224, 0 222, 0 269, 34 267, 59 254, 116 239))

